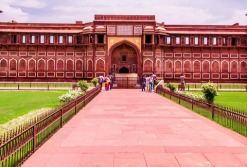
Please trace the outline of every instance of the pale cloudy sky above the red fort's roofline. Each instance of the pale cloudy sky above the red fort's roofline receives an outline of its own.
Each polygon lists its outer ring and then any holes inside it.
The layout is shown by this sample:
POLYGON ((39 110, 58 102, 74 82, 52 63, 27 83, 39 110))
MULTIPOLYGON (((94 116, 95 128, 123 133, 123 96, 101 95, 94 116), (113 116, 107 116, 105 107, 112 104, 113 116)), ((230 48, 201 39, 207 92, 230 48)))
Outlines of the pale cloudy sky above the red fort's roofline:
POLYGON ((0 21, 91 22, 95 14, 155 15, 165 24, 247 25, 247 0, 0 0, 0 21))

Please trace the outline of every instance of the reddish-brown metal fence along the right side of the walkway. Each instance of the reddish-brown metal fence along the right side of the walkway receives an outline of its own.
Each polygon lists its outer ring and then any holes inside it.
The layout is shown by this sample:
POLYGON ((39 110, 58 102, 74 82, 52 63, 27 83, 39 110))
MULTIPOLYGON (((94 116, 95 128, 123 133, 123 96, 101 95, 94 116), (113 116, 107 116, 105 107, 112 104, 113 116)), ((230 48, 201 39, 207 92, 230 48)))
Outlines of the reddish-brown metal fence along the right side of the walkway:
POLYGON ((159 85, 156 88, 156 93, 172 99, 229 129, 247 136, 247 114, 243 111, 238 111, 226 106, 210 104, 204 100, 196 100, 186 95, 169 91, 162 85, 159 85))

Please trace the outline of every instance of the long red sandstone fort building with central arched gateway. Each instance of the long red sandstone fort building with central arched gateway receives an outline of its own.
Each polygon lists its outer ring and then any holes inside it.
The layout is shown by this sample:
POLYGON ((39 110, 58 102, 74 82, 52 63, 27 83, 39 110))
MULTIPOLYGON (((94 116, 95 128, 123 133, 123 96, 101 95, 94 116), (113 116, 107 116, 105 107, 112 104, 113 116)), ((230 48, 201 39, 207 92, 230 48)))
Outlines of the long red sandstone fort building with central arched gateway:
POLYGON ((154 15, 89 23, 0 22, 1 81, 72 81, 108 73, 246 82, 247 26, 167 25, 154 15))

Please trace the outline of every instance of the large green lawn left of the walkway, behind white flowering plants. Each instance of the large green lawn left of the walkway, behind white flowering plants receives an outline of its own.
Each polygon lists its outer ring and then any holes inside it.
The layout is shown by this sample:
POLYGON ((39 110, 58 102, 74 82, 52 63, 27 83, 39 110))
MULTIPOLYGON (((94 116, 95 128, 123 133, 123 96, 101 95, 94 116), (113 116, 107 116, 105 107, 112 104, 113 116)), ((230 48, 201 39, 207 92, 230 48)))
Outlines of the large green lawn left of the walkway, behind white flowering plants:
POLYGON ((61 105, 58 96, 67 91, 0 91, 0 124, 41 108, 61 105))

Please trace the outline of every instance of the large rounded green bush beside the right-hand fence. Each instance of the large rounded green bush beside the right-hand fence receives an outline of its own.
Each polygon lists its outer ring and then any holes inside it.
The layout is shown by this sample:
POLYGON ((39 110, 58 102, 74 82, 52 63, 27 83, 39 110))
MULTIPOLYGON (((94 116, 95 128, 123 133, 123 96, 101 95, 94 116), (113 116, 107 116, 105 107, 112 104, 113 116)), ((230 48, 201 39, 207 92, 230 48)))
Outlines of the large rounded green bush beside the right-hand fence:
POLYGON ((202 85, 202 92, 205 99, 209 103, 214 102, 214 97, 217 96, 217 86, 211 82, 202 85))

